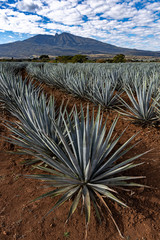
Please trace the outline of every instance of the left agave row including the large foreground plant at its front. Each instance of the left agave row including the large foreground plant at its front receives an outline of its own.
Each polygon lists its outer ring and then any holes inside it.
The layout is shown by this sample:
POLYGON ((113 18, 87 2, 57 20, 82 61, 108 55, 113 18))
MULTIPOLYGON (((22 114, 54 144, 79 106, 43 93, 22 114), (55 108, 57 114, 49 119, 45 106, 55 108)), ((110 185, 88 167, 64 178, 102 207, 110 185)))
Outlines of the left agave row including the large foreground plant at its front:
POLYGON ((53 96, 48 97, 32 82, 5 72, 0 73, 0 102, 17 119, 16 122, 5 121, 12 133, 7 141, 34 156, 27 163, 41 171, 27 177, 42 180, 49 188, 35 200, 59 196, 51 212, 72 199, 67 221, 78 205, 82 206, 86 232, 91 205, 99 220, 103 205, 122 236, 108 202, 110 205, 113 200, 126 207, 122 196, 117 197, 118 190, 142 186, 134 180, 143 176, 128 175, 128 170, 142 164, 137 159, 144 153, 132 152, 139 143, 131 145, 137 134, 119 146, 126 129, 119 136, 114 134, 118 118, 109 126, 107 121, 103 123, 100 108, 97 114, 93 109, 90 116, 89 106, 85 110, 81 107, 80 111, 76 106, 68 111, 64 103, 56 107, 53 96), (127 158, 128 152, 133 156, 127 158))

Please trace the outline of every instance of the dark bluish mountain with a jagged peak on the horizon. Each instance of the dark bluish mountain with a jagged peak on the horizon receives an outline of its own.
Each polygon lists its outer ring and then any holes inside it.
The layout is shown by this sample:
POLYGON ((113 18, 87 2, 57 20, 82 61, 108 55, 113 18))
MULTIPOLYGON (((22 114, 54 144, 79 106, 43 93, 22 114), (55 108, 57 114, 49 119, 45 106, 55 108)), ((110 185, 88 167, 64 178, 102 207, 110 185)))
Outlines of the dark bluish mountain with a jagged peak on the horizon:
POLYGON ((160 57, 160 52, 121 48, 70 33, 36 35, 23 41, 0 44, 0 57, 29 58, 33 55, 125 54, 160 57))

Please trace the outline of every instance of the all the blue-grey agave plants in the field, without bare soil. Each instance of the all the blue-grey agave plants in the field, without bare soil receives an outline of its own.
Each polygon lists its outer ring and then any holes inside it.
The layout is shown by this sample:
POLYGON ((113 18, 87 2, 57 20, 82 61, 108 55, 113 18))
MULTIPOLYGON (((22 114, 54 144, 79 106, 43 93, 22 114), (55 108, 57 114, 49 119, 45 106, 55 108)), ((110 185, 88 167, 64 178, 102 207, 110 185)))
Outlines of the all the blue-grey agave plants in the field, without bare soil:
POLYGON ((118 115, 142 126, 158 125, 159 90, 159 64, 2 63, 0 103, 16 118, 4 123, 11 131, 6 140, 34 157, 26 164, 39 174, 26 177, 41 180, 49 188, 34 200, 59 196, 52 212, 72 199, 66 219, 82 206, 86 229, 91 209, 100 220, 103 205, 122 236, 107 201, 127 207, 119 189, 142 186, 139 179, 144 176, 132 175, 132 169, 142 165, 140 159, 146 152, 132 154, 139 144, 132 143, 138 133, 120 144, 126 129, 119 136, 114 130, 118 115), (95 108, 98 105, 98 111, 89 104, 80 111, 76 105, 69 110, 66 102, 57 104, 54 96, 43 92, 44 84, 86 99, 95 108), (110 125, 103 117, 108 109, 117 112, 110 125))

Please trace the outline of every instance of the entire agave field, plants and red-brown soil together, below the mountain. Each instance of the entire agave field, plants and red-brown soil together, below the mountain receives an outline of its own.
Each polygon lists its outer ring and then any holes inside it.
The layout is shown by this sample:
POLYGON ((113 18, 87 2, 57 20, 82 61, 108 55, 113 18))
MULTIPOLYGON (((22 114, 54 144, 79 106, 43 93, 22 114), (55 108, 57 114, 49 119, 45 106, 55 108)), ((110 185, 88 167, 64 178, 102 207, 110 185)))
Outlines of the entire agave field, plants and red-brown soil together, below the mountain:
POLYGON ((160 64, 0 65, 0 239, 160 239, 160 64))

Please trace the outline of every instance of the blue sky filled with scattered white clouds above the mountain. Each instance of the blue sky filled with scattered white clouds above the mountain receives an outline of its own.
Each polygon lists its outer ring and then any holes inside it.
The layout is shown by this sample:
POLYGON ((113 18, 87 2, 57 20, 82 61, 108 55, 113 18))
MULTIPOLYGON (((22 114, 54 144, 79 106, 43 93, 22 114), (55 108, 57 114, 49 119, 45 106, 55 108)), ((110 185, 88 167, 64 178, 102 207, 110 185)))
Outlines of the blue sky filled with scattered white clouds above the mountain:
POLYGON ((160 0, 0 0, 0 44, 62 32, 160 51, 160 0))

